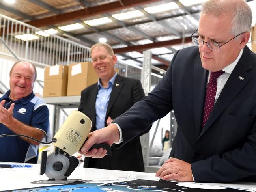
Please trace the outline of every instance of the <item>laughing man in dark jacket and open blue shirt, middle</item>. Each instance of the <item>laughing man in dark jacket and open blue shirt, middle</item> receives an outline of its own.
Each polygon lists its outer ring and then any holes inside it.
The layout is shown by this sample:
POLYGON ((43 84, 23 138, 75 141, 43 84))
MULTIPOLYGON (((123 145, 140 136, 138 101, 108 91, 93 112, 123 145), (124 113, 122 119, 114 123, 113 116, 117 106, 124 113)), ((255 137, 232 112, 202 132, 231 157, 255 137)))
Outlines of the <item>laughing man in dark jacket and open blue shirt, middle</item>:
MULTIPOLYGON (((92 131, 101 129, 127 111, 145 95, 139 80, 120 76, 114 65, 116 55, 110 45, 97 43, 91 48, 92 65, 99 76, 96 84, 84 89, 78 108, 92 120, 92 131)), ((126 171, 144 171, 140 138, 136 136, 113 155, 85 158, 84 167, 126 171)))

